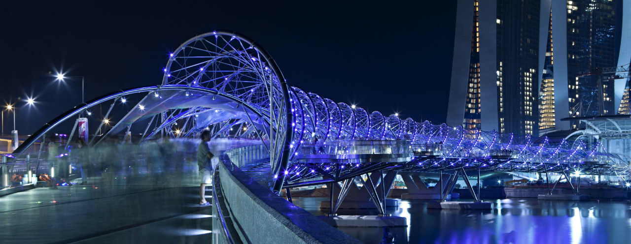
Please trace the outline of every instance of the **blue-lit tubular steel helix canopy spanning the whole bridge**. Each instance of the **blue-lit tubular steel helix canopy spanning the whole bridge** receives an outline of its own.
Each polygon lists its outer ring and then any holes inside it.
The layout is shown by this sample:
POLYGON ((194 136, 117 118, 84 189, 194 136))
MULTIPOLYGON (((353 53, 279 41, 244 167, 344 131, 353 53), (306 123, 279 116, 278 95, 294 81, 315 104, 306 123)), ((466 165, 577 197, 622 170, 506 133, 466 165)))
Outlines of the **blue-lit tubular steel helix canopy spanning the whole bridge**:
POLYGON ((101 104, 107 104, 108 118, 121 99, 136 94, 139 102, 112 121, 115 125, 109 130, 103 131, 100 123, 90 139, 92 147, 105 138, 129 134, 132 126, 143 131, 137 143, 191 137, 202 130, 210 130, 213 138, 260 140, 269 160, 257 164, 269 165, 268 186, 276 192, 283 184, 292 186, 332 174, 338 177, 331 178, 348 178, 375 170, 628 174, 630 158, 605 153, 599 143, 553 143, 545 137, 432 125, 290 87, 260 45, 232 31, 213 31, 187 40, 169 54, 163 72, 160 86, 112 92, 53 119, 15 150, 13 164, 63 121, 101 104))

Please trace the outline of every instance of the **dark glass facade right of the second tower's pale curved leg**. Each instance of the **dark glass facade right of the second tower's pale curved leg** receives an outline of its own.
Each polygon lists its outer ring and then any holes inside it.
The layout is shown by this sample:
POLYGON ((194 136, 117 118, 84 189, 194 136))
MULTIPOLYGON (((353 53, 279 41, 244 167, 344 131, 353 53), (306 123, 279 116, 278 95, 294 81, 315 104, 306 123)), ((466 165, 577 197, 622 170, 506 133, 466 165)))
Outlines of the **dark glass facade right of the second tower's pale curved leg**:
POLYGON ((601 75, 579 75, 596 67, 616 66, 615 4, 615 0, 567 1, 564 13, 570 116, 615 113, 613 80, 604 80, 601 75))

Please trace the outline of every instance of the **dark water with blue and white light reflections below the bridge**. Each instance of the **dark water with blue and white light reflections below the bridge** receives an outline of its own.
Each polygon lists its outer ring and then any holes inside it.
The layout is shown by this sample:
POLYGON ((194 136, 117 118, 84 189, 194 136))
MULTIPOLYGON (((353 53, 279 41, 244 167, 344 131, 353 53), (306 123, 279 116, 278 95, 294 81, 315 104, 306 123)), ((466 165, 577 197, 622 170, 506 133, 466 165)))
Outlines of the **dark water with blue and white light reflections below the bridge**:
MULTIPOLYGON (((322 215, 327 197, 295 197, 294 203, 322 215), (316 204, 317 203, 317 204, 316 204)), ((631 243, 628 202, 539 201, 497 199, 492 210, 427 209, 427 201, 401 201, 389 208, 406 217, 408 227, 391 228, 397 243, 631 243)), ((339 214, 377 214, 375 210, 343 210, 339 214)), ((379 243, 381 228, 339 228, 365 243, 379 243)))

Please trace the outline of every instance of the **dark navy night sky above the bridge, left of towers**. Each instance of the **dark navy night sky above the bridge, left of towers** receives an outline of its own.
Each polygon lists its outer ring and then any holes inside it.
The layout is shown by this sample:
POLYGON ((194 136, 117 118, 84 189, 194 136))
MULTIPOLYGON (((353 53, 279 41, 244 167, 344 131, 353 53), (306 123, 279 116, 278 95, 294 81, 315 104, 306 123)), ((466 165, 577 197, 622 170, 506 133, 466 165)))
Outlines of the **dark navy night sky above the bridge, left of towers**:
MULTIPOLYGON (((192 36, 233 30, 256 40, 291 86, 383 114, 444 123, 456 3, 45 1, 0 8, 0 98, 20 97, 17 130, 33 133, 81 102, 162 81, 168 53, 192 36), (37 97, 35 108, 24 99, 37 97)), ((98 112, 97 112, 98 113, 98 112)), ((4 132, 13 122, 5 113, 4 132)))

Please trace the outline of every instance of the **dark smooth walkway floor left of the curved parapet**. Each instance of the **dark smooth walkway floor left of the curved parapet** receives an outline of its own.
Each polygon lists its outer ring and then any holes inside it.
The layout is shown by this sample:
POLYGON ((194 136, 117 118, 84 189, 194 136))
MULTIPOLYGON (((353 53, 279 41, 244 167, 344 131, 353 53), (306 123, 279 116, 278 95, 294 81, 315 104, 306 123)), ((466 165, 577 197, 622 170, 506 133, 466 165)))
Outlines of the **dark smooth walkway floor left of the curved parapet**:
POLYGON ((198 191, 121 184, 18 192, 0 197, 0 243, 210 243, 212 209, 196 204, 198 191))

